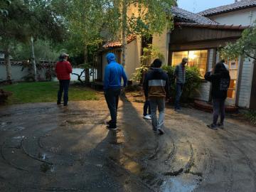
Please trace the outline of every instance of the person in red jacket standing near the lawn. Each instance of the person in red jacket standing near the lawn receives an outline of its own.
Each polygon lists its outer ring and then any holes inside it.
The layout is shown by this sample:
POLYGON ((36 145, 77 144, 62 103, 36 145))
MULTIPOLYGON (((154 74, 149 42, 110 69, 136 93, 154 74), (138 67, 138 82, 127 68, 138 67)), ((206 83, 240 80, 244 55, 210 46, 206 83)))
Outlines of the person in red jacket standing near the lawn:
POLYGON ((71 64, 68 62, 68 54, 61 54, 60 60, 56 63, 55 73, 60 82, 60 88, 58 90, 57 105, 61 104, 61 97, 64 90, 63 105, 68 105, 68 87, 70 84, 70 73, 72 73, 71 64))

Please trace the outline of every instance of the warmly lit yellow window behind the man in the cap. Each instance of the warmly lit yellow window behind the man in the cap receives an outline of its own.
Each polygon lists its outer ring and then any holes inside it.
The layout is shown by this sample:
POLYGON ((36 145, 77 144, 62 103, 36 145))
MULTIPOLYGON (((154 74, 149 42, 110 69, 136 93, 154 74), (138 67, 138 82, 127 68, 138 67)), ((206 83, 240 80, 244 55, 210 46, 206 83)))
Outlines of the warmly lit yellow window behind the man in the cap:
POLYGON ((203 77, 206 74, 208 50, 186 50, 173 52, 171 65, 175 66, 181 63, 182 58, 188 58, 188 66, 196 66, 200 75, 203 77))

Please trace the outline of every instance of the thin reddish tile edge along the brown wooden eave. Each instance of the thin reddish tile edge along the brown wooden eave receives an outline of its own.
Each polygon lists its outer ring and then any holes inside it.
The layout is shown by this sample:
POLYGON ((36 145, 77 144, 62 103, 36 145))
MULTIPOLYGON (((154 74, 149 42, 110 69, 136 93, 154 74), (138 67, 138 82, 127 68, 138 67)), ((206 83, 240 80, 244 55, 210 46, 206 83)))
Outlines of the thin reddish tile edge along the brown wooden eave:
POLYGON ((175 26, 189 26, 196 28, 212 28, 212 29, 226 29, 226 30, 244 30, 250 26, 234 26, 234 25, 220 25, 220 24, 201 24, 201 23, 175 23, 175 26))

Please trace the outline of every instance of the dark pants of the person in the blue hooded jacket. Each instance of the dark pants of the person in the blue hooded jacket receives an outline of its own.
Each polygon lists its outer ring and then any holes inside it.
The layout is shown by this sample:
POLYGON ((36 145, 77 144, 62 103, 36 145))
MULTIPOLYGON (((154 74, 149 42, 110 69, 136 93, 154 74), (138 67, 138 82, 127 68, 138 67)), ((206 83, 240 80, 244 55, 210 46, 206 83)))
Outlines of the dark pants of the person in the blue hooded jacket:
POLYGON ((108 89, 105 91, 105 99, 107 102, 107 107, 110 110, 111 115, 111 125, 116 126, 117 124, 117 107, 118 107, 118 100, 120 95, 121 89, 108 89))

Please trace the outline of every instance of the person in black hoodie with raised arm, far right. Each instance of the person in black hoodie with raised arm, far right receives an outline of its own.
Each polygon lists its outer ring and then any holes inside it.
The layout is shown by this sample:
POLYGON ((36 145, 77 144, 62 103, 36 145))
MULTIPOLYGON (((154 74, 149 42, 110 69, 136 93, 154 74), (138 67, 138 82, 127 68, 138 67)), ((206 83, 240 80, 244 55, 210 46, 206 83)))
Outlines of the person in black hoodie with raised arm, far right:
POLYGON ((213 98, 213 123, 208 124, 210 129, 224 128, 225 119, 225 99, 227 98, 228 87, 230 85, 230 75, 223 63, 217 63, 215 70, 206 73, 205 79, 212 83, 211 96, 213 98), (220 114, 220 123, 218 116, 220 114))

